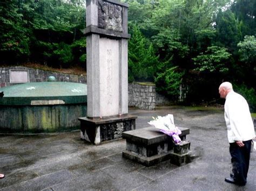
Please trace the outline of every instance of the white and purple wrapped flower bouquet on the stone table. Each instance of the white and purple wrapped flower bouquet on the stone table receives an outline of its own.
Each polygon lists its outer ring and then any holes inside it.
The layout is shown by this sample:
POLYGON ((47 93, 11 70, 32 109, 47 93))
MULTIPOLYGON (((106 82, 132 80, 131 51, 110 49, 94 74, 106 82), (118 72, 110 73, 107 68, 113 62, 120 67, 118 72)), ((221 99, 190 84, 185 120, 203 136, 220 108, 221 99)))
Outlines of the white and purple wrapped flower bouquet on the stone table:
POLYGON ((181 131, 177 126, 174 125, 173 115, 168 114, 164 117, 157 116, 156 118, 153 117, 153 120, 148 122, 150 125, 154 126, 155 128, 159 129, 160 132, 165 133, 172 137, 175 143, 181 142, 179 135, 181 131))

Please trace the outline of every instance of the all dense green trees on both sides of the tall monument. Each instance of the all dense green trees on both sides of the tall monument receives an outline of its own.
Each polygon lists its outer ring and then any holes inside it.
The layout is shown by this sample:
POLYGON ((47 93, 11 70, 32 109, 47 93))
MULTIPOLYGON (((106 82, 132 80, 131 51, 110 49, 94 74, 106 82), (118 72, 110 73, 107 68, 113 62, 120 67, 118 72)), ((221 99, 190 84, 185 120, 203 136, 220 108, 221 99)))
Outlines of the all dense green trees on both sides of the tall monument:
MULTIPOLYGON (((231 81, 256 108, 255 0, 123 1, 130 82, 154 81, 173 101, 183 87, 191 104, 219 102, 231 81)), ((85 67, 85 0, 2 0, 0 24, 2 63, 85 67)))

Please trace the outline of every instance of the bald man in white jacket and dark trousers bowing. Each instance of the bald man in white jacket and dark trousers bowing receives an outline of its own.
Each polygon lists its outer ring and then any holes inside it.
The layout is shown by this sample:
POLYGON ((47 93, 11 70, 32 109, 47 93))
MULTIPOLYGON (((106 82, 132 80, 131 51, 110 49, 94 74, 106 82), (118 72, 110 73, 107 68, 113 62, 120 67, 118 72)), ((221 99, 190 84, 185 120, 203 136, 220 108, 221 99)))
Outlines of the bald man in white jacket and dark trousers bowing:
POLYGON ((226 182, 244 186, 249 168, 252 139, 255 137, 254 125, 248 103, 240 94, 233 91, 230 82, 219 87, 221 98, 225 98, 225 121, 227 138, 230 143, 232 173, 226 182))

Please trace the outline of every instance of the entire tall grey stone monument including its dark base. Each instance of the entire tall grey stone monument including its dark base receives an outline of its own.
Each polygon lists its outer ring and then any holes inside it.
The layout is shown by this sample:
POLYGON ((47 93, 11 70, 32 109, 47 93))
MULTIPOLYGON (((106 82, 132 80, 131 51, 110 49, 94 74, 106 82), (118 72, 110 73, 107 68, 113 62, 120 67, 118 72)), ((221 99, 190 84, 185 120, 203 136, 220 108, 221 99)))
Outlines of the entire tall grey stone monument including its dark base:
POLYGON ((135 129, 128 114, 128 5, 86 1, 87 117, 78 118, 81 138, 93 144, 135 129))

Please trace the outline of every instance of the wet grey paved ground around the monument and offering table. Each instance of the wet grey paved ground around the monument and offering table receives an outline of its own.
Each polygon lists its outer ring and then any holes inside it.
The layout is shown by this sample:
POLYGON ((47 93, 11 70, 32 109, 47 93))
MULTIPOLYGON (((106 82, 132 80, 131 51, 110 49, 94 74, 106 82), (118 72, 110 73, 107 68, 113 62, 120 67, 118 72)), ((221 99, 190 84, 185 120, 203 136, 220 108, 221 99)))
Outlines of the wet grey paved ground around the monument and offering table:
POLYGON ((247 185, 226 183, 230 154, 223 109, 130 108, 136 129, 152 116, 174 115, 190 128, 187 140, 196 158, 184 166, 169 160, 145 167, 122 158, 125 140, 101 145, 80 140, 80 132, 0 135, 0 190, 256 190, 256 153, 251 155, 247 185))

